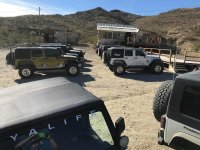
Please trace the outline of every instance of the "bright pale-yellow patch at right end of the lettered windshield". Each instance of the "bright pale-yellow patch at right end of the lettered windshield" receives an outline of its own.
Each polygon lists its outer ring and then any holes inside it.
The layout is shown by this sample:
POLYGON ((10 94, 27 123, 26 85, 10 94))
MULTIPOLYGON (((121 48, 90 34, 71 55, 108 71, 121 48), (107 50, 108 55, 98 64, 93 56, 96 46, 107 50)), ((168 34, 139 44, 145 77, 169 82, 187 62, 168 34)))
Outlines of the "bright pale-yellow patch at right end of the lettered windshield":
POLYGON ((101 112, 95 112, 89 116, 90 125, 99 138, 107 142, 109 145, 114 145, 112 136, 106 124, 106 121, 101 112))

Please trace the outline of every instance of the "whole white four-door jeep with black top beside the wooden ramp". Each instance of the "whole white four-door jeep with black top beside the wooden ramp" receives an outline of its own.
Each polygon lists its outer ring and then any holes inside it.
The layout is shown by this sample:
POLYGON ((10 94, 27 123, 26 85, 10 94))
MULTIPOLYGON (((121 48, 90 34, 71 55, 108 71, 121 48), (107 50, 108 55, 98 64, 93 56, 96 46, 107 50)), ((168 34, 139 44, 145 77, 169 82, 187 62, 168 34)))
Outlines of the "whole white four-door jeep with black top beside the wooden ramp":
POLYGON ((141 48, 111 47, 104 62, 115 75, 122 75, 129 68, 150 69, 155 74, 163 72, 163 62, 158 56, 148 55, 141 48))

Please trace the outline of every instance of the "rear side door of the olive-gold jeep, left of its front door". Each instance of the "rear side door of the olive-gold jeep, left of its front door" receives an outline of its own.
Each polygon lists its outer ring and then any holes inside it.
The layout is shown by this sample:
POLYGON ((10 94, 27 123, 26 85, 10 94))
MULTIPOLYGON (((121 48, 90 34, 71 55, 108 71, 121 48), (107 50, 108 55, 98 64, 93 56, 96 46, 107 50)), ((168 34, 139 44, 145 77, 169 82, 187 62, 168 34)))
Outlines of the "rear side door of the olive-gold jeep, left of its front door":
POLYGON ((32 49, 31 60, 37 69, 43 68, 43 55, 41 49, 32 49))

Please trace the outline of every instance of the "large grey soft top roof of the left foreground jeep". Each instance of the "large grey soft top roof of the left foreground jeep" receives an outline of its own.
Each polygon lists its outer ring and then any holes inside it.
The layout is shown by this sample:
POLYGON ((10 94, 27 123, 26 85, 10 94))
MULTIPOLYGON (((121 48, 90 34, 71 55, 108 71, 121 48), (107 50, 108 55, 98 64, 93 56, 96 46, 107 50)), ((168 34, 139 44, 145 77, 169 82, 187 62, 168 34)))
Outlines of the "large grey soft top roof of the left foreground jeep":
POLYGON ((0 97, 0 133, 47 115, 103 104, 78 84, 62 77, 2 89, 0 97))

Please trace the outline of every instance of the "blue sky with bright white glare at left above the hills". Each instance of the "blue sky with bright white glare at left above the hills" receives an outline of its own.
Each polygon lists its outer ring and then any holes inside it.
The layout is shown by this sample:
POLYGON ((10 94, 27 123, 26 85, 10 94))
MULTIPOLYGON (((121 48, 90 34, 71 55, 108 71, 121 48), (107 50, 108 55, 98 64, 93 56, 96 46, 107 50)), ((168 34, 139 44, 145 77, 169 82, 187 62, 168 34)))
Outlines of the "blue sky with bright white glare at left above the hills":
POLYGON ((118 9, 142 16, 157 15, 177 8, 200 7, 200 0, 0 0, 0 16, 73 14, 96 7, 118 9))

